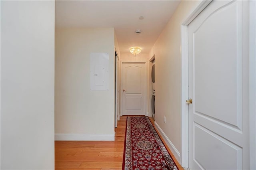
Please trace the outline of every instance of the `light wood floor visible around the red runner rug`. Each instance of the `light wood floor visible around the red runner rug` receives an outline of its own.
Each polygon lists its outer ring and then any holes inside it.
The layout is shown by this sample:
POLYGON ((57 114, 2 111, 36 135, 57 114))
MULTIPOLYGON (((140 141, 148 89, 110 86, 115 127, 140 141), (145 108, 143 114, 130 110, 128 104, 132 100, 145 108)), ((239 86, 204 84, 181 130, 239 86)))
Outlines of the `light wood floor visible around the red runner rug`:
MULTIPOLYGON (((115 141, 55 141, 55 169, 121 170, 125 128, 126 116, 122 116, 116 128, 115 141)), ((166 143, 164 144, 171 153, 166 143)), ((172 153, 171 155, 174 158, 172 153)), ((175 158, 174 161, 182 170, 175 158)))

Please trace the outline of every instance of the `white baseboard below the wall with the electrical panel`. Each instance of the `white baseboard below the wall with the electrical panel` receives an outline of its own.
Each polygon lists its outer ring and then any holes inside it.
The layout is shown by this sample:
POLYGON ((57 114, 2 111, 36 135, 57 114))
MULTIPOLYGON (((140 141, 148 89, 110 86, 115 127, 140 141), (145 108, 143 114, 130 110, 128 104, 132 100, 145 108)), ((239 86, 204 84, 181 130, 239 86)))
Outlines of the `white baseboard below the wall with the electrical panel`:
POLYGON ((115 134, 55 134, 55 140, 95 140, 114 141, 115 134))

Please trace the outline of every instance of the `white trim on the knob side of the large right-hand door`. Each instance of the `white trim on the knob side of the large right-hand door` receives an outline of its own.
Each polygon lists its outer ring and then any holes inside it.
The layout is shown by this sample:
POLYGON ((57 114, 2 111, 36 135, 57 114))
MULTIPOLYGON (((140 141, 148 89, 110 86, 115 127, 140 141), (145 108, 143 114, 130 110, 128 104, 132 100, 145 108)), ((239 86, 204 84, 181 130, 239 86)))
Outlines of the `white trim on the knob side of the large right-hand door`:
POLYGON ((211 0, 201 0, 181 25, 181 166, 188 168, 188 24, 192 22, 211 0))

